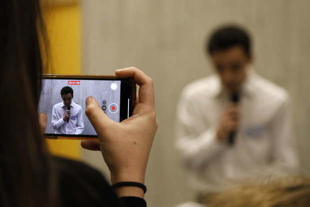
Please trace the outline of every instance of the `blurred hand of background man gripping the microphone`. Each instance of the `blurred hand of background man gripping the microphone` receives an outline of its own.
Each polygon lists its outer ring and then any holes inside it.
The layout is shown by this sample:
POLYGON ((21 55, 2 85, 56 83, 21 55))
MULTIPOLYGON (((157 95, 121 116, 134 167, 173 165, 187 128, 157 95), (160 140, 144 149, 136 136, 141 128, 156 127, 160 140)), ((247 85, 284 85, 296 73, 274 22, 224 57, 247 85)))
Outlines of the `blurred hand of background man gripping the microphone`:
POLYGON ((217 139, 224 140, 235 131, 239 122, 239 108, 237 104, 229 105, 220 115, 217 128, 217 139))

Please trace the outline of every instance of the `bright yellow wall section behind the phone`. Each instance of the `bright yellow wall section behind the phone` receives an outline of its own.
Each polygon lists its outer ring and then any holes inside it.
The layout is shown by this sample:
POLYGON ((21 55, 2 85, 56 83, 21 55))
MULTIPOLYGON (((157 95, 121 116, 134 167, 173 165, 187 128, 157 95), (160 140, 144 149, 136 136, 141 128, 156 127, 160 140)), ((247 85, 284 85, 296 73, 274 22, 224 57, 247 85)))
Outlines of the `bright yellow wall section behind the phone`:
MULTIPOLYGON (((49 67, 45 73, 80 74, 81 28, 77 3, 53 5, 45 11, 49 38, 49 67)), ((52 154, 80 158, 80 141, 47 139, 52 154)))

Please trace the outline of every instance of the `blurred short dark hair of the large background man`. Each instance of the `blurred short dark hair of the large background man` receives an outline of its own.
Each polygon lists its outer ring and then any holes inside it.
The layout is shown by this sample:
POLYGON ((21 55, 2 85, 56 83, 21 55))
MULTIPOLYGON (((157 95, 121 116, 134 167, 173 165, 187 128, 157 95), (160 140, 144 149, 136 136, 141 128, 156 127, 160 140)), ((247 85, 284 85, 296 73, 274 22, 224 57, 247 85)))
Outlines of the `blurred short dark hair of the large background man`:
POLYGON ((251 40, 248 33, 236 26, 226 26, 217 29, 206 44, 206 53, 212 55, 234 46, 241 46, 247 56, 251 55, 251 40))

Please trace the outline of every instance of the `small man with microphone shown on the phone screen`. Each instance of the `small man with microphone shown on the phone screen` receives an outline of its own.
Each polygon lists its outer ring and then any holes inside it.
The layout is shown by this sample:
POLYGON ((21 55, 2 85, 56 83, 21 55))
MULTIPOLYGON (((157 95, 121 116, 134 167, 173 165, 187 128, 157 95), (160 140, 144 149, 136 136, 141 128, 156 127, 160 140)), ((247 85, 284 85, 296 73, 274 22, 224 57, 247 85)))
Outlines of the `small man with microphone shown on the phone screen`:
POLYGON ((60 95, 62 102, 52 107, 51 125, 55 134, 81 134, 84 129, 82 107, 72 101, 72 88, 63 87, 60 95))

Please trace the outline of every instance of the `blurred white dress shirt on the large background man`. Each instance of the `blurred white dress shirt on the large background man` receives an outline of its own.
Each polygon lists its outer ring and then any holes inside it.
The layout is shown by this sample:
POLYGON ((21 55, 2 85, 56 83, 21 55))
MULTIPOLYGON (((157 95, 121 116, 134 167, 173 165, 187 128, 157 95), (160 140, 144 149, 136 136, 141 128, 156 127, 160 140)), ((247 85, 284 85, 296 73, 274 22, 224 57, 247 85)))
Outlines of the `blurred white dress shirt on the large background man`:
POLYGON ((239 125, 229 146, 216 138, 219 115, 230 102, 218 75, 196 80, 181 93, 176 148, 194 189, 216 190, 218 183, 258 171, 298 168, 287 92, 251 71, 239 96, 239 125))

